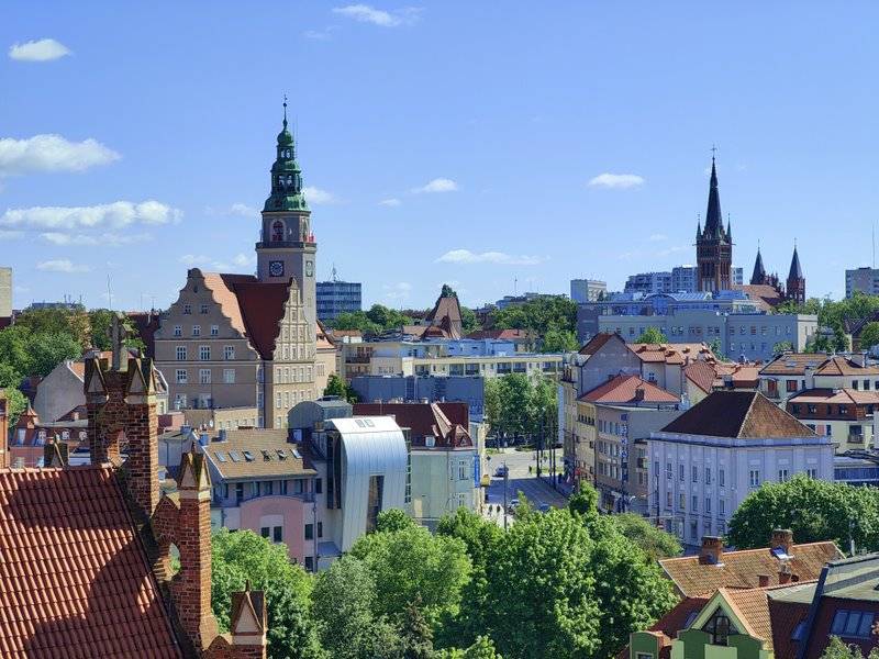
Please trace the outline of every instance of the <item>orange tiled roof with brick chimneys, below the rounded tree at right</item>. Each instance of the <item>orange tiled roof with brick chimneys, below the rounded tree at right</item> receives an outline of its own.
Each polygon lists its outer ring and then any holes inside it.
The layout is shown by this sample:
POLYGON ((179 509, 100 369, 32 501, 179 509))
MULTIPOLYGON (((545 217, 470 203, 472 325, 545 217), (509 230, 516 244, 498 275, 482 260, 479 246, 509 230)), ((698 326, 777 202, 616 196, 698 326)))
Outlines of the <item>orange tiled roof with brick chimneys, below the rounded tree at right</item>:
MULTIPOLYGON (((824 563, 842 557, 831 541, 793 545, 788 562, 791 573, 800 581, 817 579, 824 563)), ((769 577, 770 584, 778 584, 781 560, 769 548, 724 551, 721 562, 703 565, 699 556, 665 558, 659 566, 686 597, 713 593, 719 588, 757 588, 759 576, 769 577)))

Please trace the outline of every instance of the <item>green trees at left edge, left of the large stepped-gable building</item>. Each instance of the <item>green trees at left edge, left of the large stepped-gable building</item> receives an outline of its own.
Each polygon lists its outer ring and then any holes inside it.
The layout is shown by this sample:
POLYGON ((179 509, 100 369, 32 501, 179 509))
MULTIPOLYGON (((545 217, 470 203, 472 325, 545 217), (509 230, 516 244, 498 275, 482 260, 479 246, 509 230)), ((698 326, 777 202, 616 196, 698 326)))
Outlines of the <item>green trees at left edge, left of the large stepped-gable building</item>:
MULTIPOLYGON (((107 309, 38 309, 25 311, 15 324, 0 330, 0 389, 9 399, 9 423, 14 425, 27 400, 19 388, 27 377, 46 377, 65 359, 88 348, 110 348, 113 312, 107 309)), ((130 320, 123 322, 126 346, 143 348, 130 320)))

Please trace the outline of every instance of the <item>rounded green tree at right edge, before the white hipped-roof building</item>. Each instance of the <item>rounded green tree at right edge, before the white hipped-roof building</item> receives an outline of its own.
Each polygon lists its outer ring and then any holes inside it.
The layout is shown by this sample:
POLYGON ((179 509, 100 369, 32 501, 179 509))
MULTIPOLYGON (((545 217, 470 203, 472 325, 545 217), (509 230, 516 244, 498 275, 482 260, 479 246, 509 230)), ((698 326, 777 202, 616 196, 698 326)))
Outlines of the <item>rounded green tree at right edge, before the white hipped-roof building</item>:
POLYGON ((879 549, 879 492, 797 476, 748 494, 730 521, 728 541, 742 549, 766 547, 774 528, 793 530, 798 543, 834 540, 848 549, 879 549))

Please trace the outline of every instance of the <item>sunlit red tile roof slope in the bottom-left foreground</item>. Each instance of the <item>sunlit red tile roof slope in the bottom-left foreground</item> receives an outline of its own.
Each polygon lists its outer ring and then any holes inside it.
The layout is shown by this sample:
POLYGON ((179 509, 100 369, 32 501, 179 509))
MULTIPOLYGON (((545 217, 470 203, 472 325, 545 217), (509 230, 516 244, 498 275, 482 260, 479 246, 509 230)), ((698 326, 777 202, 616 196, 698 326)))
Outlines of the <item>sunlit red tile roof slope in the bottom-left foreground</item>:
POLYGON ((0 470, 0 656, 180 657, 109 467, 0 470))

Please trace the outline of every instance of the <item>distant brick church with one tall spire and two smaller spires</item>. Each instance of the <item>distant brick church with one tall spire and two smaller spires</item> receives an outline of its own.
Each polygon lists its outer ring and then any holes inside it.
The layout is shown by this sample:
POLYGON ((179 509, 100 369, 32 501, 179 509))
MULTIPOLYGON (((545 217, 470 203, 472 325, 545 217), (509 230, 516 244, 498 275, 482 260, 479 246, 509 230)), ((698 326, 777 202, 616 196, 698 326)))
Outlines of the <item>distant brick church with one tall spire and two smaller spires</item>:
POLYGON ((805 277, 803 277, 795 245, 786 284, 782 284, 778 275, 766 272, 759 247, 750 282, 744 286, 733 283, 733 228, 728 220, 725 226, 723 223, 717 167, 713 156, 711 158, 705 226, 702 228, 700 222, 696 230, 696 258, 698 264, 697 289, 700 291, 716 293, 725 290, 743 290, 748 298, 758 301, 766 308, 778 306, 787 301, 799 304, 805 302, 805 277))

